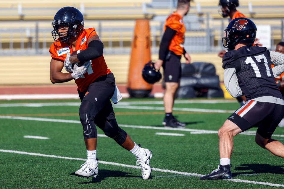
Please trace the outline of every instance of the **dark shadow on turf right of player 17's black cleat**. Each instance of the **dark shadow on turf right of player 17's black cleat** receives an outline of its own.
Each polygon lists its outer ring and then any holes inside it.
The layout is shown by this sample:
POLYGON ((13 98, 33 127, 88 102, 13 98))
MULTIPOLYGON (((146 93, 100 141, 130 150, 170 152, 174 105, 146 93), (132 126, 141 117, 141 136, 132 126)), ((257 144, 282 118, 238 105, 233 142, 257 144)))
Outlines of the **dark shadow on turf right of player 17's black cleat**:
POLYGON ((258 173, 273 173, 284 174, 284 165, 269 165, 269 164, 241 164, 240 167, 236 167, 234 170, 248 171, 233 173, 233 177, 241 174, 258 174, 258 173))

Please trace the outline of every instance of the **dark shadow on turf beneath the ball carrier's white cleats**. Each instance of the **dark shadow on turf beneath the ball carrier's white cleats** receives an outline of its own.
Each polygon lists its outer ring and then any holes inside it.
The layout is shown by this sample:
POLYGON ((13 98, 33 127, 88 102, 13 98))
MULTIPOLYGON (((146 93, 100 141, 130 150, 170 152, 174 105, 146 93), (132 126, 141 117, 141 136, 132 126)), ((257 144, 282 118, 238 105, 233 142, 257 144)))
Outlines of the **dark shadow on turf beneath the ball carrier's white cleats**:
MULTIPOLYGON (((141 177, 142 176, 133 176, 133 175, 129 175, 129 172, 122 172, 122 171, 110 171, 110 170, 99 170, 99 175, 95 178, 95 177, 90 177, 90 178, 83 178, 86 179, 87 182, 83 182, 80 184, 89 184, 89 183, 99 183, 102 180, 105 180, 106 177, 141 177)), ((75 172, 71 173, 70 175, 74 175, 75 176, 75 172)))

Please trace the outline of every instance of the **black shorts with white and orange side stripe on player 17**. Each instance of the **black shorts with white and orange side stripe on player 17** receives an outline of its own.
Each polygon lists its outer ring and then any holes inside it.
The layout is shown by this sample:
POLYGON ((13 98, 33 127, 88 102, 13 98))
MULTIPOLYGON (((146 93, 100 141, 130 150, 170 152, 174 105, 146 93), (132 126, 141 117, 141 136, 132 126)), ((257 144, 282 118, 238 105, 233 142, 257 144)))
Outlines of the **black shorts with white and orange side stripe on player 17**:
POLYGON ((228 120, 235 123, 242 131, 258 127, 256 132, 263 138, 270 139, 283 116, 284 105, 248 100, 230 115, 228 120))

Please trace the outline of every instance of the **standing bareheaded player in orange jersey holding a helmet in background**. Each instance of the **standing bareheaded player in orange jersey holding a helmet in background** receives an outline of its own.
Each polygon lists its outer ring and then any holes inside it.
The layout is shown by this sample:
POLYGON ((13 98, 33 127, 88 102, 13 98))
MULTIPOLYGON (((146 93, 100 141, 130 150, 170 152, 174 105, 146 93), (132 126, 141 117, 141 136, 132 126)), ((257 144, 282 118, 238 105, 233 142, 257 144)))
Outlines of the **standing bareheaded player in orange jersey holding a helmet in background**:
POLYGON ((183 48, 185 33, 183 17, 189 12, 190 1, 178 0, 176 12, 166 19, 164 34, 160 43, 159 60, 154 64, 155 69, 159 70, 161 66, 164 69, 165 92, 163 100, 165 118, 163 125, 166 127, 185 127, 185 123, 181 123, 172 115, 172 108, 181 77, 181 55, 185 57, 185 63, 191 61, 191 57, 183 48))

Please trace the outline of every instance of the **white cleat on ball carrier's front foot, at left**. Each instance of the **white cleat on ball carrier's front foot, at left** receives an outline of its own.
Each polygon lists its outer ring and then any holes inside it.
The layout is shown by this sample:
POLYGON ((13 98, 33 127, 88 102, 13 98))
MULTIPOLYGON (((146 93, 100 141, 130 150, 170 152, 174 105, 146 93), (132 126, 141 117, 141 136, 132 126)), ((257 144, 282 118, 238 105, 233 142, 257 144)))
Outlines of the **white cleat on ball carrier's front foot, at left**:
POLYGON ((96 163, 92 163, 91 161, 86 161, 81 165, 81 169, 75 172, 75 175, 78 177, 97 177, 99 174, 98 161, 96 163))

